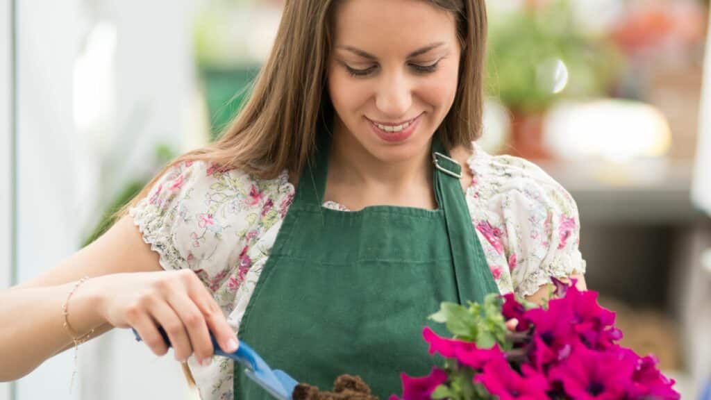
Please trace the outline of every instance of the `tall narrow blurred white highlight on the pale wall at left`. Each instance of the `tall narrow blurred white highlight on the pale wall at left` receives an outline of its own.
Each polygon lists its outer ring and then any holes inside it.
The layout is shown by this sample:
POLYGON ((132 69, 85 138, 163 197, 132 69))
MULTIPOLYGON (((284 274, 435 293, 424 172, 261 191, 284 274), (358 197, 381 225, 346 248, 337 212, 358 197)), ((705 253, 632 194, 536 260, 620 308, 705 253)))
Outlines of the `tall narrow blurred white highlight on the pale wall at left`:
POLYGON ((116 37, 112 23, 97 23, 75 60, 74 122, 79 130, 102 125, 112 109, 116 37))

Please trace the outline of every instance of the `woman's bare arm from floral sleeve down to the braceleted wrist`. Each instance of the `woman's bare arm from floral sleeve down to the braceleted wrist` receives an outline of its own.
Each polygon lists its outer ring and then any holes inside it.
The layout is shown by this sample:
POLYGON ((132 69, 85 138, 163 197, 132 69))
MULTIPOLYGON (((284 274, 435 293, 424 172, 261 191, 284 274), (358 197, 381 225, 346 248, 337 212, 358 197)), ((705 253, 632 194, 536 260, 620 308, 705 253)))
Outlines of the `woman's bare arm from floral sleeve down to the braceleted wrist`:
MULTIPOLYGON (((115 273, 162 270, 128 216, 89 246, 46 273, 0 292, 0 381, 19 379, 46 359, 73 347, 63 327, 62 306, 77 280, 115 273)), ((110 278, 110 277, 109 277, 110 278)), ((106 278, 104 278, 106 279, 106 278)), ((102 280, 82 283, 68 303, 69 324, 80 335, 112 329, 100 315, 102 280)))

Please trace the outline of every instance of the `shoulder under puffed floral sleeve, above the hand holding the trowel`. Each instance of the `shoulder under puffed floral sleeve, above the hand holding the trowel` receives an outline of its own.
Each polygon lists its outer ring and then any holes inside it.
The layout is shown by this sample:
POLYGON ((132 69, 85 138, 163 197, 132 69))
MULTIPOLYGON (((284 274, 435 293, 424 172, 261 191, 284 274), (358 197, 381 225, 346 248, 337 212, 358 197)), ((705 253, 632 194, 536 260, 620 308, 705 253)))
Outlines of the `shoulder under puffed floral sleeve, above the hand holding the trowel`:
POLYGON ((271 237, 293 194, 286 172, 261 179, 210 162, 181 162, 161 174, 129 214, 163 268, 196 270, 217 290, 240 253, 245 258, 271 237))

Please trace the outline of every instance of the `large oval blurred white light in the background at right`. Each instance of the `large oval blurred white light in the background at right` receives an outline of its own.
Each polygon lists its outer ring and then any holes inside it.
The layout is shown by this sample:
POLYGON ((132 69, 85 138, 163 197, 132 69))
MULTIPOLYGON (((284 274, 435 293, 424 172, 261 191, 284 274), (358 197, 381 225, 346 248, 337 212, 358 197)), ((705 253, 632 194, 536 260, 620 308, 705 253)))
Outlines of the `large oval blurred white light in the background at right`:
POLYGON ((547 115, 545 142, 563 159, 600 157, 629 162, 664 156, 671 132, 664 115, 642 102, 565 102, 547 115))

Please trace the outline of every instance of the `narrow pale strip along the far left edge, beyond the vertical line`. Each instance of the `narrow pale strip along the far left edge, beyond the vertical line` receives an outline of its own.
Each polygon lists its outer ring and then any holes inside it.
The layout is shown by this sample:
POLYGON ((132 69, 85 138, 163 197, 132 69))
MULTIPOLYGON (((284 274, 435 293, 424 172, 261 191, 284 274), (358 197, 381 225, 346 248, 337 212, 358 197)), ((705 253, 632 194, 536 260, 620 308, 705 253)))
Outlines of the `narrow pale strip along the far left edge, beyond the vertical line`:
MULTIPOLYGON (((0 290, 12 276, 12 4, 0 0, 0 290)), ((11 385, 0 383, 0 400, 10 400, 11 385)))

